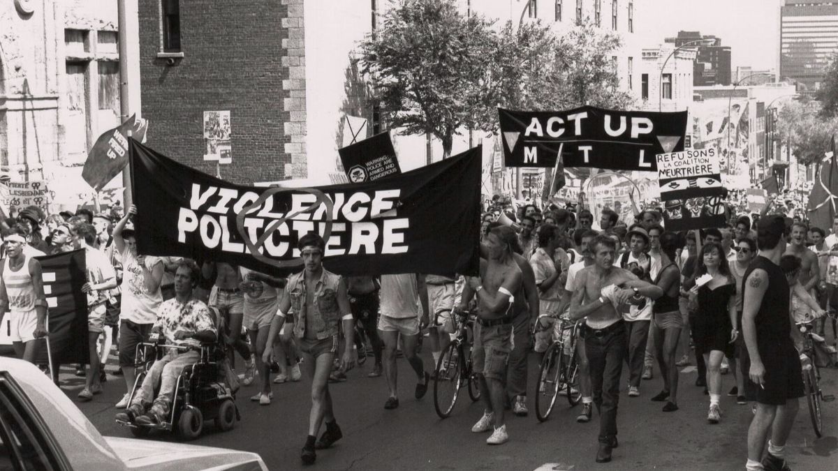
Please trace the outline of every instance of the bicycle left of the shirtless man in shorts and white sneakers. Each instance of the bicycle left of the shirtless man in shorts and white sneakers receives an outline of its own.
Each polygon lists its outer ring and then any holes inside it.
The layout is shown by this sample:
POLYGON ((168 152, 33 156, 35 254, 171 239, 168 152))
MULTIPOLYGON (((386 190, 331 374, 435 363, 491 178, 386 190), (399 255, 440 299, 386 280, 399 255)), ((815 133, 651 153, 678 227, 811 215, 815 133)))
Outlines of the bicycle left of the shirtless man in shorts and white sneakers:
POLYGON ((442 350, 437 361, 433 380, 433 407, 437 416, 444 419, 451 415, 460 389, 468 388, 468 396, 472 401, 480 399, 478 379, 472 370, 471 345, 469 344, 469 330, 473 333, 476 316, 468 311, 456 313, 453 316, 455 331, 457 332, 451 344, 442 350), (450 397, 448 397, 450 395, 450 397))

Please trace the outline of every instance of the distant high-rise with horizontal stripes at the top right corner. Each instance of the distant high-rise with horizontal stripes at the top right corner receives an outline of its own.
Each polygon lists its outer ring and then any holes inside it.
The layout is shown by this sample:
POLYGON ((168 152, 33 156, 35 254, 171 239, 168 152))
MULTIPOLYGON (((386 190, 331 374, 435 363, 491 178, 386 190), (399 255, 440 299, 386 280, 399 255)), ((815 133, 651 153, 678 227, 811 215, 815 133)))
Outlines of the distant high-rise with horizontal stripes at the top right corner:
POLYGON ((838 0, 785 0, 780 8, 780 78, 820 88, 838 49, 838 0))

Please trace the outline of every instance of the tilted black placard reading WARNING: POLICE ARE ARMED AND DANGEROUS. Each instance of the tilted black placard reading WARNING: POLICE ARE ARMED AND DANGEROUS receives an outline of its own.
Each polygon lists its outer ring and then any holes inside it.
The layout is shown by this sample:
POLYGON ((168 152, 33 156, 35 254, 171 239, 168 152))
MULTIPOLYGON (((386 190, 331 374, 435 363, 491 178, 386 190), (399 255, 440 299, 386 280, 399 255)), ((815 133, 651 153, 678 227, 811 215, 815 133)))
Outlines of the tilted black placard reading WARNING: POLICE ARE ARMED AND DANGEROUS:
POLYGON ((339 148, 338 153, 347 178, 355 184, 401 173, 390 132, 380 132, 369 139, 339 148))

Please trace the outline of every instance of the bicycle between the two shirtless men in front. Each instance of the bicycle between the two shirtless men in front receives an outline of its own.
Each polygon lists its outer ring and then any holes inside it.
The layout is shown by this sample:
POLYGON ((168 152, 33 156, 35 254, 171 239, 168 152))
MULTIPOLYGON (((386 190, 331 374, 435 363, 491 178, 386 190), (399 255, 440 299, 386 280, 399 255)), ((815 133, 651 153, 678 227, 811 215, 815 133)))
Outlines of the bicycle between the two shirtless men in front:
MULTIPOLYGON (((539 323, 535 329, 539 329, 539 323)), ((541 360, 538 382, 535 384, 535 417, 545 422, 556 405, 556 396, 564 390, 571 407, 582 399, 579 390, 576 336, 578 323, 558 318, 553 323, 553 342, 541 360)))

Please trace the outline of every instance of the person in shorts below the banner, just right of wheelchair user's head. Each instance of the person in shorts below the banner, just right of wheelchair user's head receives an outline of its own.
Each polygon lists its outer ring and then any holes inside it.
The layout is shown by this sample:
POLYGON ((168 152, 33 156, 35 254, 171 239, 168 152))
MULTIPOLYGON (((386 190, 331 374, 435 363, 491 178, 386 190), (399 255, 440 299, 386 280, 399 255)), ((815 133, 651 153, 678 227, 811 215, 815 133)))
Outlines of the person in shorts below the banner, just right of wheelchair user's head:
MULTIPOLYGON (((243 281, 239 267, 229 263, 216 262, 215 269, 213 262, 204 262, 202 271, 204 277, 209 278, 215 272, 215 287, 209 293, 209 307, 218 308, 222 315, 227 318, 227 326, 230 329, 225 341, 232 346, 230 358, 235 359, 235 352, 239 352, 241 358, 245 359, 245 375, 241 380, 244 386, 250 386, 256 377, 256 362, 251 358, 251 348, 241 339, 241 323, 245 317, 245 298, 239 289, 243 281)), ((235 362, 234 362, 235 365, 235 362)))

